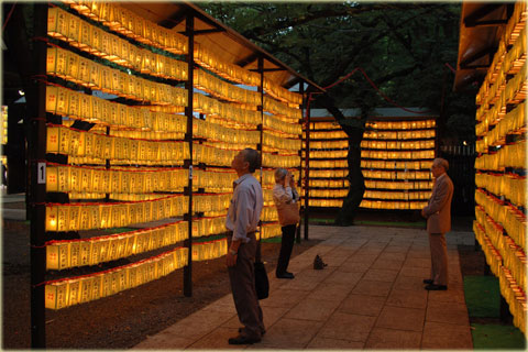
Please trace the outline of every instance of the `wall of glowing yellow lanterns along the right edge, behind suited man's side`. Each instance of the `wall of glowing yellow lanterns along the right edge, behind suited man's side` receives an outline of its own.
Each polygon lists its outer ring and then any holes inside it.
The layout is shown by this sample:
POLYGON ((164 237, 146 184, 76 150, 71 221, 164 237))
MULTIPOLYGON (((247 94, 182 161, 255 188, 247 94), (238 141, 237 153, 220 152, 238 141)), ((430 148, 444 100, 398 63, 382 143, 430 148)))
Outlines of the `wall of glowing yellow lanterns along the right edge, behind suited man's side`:
POLYGON ((473 231, 498 277, 502 311, 526 334, 526 20, 515 3, 475 101, 475 218, 473 231))

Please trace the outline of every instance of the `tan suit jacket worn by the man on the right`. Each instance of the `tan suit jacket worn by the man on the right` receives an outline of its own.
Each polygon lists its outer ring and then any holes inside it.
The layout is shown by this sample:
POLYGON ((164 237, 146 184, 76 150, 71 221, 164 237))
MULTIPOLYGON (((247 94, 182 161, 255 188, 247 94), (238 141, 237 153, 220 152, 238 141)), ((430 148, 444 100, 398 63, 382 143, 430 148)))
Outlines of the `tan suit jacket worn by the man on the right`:
POLYGON ((446 233, 451 230, 451 199, 453 183, 448 174, 437 178, 429 204, 424 208, 427 218, 427 232, 446 233))

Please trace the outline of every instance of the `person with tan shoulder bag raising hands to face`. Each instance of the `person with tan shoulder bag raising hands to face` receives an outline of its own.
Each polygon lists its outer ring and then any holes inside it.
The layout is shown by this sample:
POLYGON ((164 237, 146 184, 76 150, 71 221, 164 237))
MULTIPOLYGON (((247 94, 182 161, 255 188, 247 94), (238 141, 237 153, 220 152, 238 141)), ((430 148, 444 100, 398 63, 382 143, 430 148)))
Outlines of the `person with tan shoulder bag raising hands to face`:
POLYGON ((292 250, 294 249, 295 230, 299 222, 299 209, 297 201, 299 194, 295 189, 295 180, 292 173, 284 168, 275 170, 275 186, 273 187, 273 201, 277 208, 278 222, 283 230, 280 239, 280 253, 278 254, 275 275, 278 278, 294 278, 295 275, 287 272, 292 250))

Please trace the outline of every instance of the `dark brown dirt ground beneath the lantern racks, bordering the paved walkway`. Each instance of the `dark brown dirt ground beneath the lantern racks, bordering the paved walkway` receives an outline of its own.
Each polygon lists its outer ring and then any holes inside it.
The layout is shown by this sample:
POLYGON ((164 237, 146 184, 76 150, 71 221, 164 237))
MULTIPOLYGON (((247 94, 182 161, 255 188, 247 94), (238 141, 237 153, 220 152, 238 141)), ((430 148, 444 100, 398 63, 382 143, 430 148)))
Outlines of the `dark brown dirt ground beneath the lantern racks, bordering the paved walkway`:
MULTIPOLYGON (((24 221, 2 223, 2 349, 30 348, 30 229, 24 221)), ((318 242, 295 244, 296 256, 318 242)), ((279 243, 263 243, 273 272, 279 243)), ((479 275, 482 252, 461 248, 463 275, 479 275)), ((224 258, 193 264, 193 297, 183 294, 183 271, 106 297, 61 310, 46 310, 48 349, 129 349, 230 293, 224 258)))

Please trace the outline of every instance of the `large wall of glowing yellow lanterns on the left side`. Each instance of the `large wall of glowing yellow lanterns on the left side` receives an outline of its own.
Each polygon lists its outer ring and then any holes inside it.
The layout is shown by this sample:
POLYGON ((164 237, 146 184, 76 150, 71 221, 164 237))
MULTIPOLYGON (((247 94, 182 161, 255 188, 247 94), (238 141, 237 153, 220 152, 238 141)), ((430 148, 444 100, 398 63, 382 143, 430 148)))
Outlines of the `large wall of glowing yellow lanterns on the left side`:
MULTIPOLYGON (((47 13, 50 37, 40 48, 46 58, 42 73, 48 78, 40 86, 45 99, 40 114, 46 117, 42 121, 53 123, 40 123, 38 133, 44 135, 40 140, 46 145, 33 160, 45 161, 47 155, 59 163, 46 162, 44 182, 34 183, 45 188, 35 186, 44 197, 33 198, 33 204, 35 199, 43 202, 37 201, 40 206, 32 216, 38 213, 34 219, 43 219, 38 226, 45 228, 40 233, 48 238, 34 251, 42 254, 37 249, 45 249, 47 270, 66 271, 116 263, 182 241, 185 245, 88 276, 52 282, 44 282, 44 276, 35 278, 32 282, 36 295, 45 296, 41 308, 87 302, 180 267, 184 293, 190 295, 191 262, 218 257, 227 251, 226 238, 193 243, 198 237, 226 234, 220 223, 231 193, 223 191, 235 174, 223 170, 235 152, 248 145, 263 151, 261 175, 265 176, 263 188, 268 204, 271 168, 280 166, 300 173, 296 168, 300 165, 301 128, 296 123, 300 121, 302 97, 266 78, 263 57, 258 58, 257 73, 216 59, 209 48, 194 42, 198 10, 187 7, 191 11, 186 35, 150 23, 113 3, 68 1, 65 6, 41 8, 45 9, 41 14, 47 13), (129 28, 134 21, 140 25, 129 28), (177 87, 184 84, 185 88, 177 87), (99 98, 96 91, 116 95, 119 102, 99 98), (195 112, 207 119, 195 119, 195 112), (188 182, 176 185, 172 180, 176 174, 188 182), (211 183, 211 175, 217 185, 211 183), (46 190, 64 195, 72 202, 45 204, 46 190), (162 219, 173 222, 124 234, 59 239, 65 232, 162 219)), ((279 234, 276 217, 267 215, 266 220, 261 238, 279 234)), ((43 324, 40 329, 43 331, 43 324)), ((42 336, 33 337, 42 346, 42 336)))

